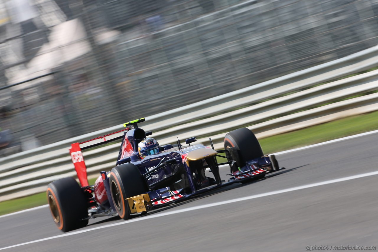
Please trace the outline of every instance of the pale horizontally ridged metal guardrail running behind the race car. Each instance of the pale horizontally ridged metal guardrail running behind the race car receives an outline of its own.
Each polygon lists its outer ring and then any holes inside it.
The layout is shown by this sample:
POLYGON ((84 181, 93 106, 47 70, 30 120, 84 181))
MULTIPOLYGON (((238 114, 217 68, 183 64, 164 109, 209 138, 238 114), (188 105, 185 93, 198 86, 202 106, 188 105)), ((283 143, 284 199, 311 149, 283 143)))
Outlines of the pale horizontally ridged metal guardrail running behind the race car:
MULTIPOLYGON (((208 144, 212 137, 222 148, 226 132, 248 126, 257 137, 280 134, 349 115, 378 109, 378 93, 350 98, 378 90, 378 70, 333 81, 378 65, 378 46, 316 67, 291 73, 245 89, 217 96, 146 118, 143 128, 153 131, 160 144, 197 136, 208 144), (328 105, 322 106, 323 104, 328 105), (253 104, 253 105, 250 105, 253 104), (240 109, 238 109, 240 108, 240 109), (168 126, 170 128, 168 128, 168 126)), ((121 129, 104 129, 53 145, 0 159, 0 201, 44 191, 56 179, 74 176, 68 155, 71 143, 121 129)), ((119 145, 84 153, 88 174, 110 170, 119 145)))

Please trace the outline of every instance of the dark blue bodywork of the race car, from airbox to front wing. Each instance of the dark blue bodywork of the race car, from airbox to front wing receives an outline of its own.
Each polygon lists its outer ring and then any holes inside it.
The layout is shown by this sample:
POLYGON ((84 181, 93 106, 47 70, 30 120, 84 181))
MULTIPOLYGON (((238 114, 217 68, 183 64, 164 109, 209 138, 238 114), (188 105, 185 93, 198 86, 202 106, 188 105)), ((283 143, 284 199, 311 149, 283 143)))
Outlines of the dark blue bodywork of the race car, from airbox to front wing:
MULTIPOLYGON (((148 135, 152 134, 152 132, 147 133, 148 135)), ((117 165, 132 163, 138 167, 149 185, 150 191, 146 193, 149 194, 152 207, 178 201, 199 191, 214 189, 229 183, 261 178, 266 173, 273 171, 271 158, 268 156, 259 157, 246 162, 246 165, 239 168, 239 171, 228 174, 232 176, 228 182, 221 181, 219 163, 217 163, 215 155, 190 162, 183 160, 187 153, 198 149, 209 149, 209 147, 204 145, 181 146, 178 143, 177 147, 163 146, 160 147, 161 149, 157 154, 141 158, 137 146, 144 138, 146 138, 146 132, 137 128, 137 126, 135 129, 125 132, 117 165), (125 152, 127 152, 126 155, 125 152), (205 176, 206 168, 210 169, 215 179, 205 176)), ((192 139, 190 141, 193 142, 192 139)), ((218 152, 225 153, 227 151, 218 152)))

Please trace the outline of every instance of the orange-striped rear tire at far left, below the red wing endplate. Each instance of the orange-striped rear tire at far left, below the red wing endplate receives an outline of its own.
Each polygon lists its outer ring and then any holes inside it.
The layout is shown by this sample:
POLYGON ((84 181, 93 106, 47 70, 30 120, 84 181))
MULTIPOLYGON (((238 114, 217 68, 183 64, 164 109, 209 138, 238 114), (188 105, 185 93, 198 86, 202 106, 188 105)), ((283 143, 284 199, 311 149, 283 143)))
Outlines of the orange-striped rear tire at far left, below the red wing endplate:
POLYGON ((88 224, 88 202, 73 177, 55 180, 47 186, 47 201, 59 230, 68 232, 88 224))

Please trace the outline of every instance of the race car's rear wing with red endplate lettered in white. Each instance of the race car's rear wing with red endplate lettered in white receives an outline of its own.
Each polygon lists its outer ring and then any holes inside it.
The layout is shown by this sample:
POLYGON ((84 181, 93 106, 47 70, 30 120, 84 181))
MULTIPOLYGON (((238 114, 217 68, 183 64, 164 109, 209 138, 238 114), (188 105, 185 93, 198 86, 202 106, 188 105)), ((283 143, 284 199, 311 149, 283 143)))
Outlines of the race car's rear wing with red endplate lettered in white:
POLYGON ((96 137, 81 143, 71 144, 71 160, 73 165, 75 166, 75 171, 82 187, 86 187, 89 185, 87 176, 87 166, 85 165, 82 151, 122 139, 124 138, 125 133, 129 130, 130 128, 125 128, 120 131, 96 137))

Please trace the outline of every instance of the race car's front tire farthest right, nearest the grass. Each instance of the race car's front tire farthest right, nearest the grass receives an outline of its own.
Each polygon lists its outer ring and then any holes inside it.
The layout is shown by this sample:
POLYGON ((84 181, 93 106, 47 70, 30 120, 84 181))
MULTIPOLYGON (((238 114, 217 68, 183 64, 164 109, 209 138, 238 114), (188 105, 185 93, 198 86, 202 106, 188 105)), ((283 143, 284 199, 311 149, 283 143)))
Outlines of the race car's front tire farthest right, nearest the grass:
MULTIPOLYGON (((225 149, 235 147, 237 150, 237 157, 235 158, 236 165, 243 167, 245 162, 256 157, 263 156, 263 152, 256 136, 247 128, 235 129, 225 136, 225 149)), ((228 161, 232 161, 231 155, 226 154, 228 161)), ((231 173, 237 170, 236 166, 231 166, 231 173)))

